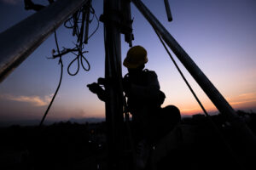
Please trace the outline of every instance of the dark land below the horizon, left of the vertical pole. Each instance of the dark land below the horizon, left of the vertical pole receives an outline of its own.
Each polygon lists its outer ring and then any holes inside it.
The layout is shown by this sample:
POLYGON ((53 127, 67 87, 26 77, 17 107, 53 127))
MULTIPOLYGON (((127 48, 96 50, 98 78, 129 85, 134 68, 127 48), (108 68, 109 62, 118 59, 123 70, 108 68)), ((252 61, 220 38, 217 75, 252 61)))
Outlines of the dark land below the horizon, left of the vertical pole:
POLYGON ((105 150, 105 123, 0 128, 0 169, 74 169, 105 150))

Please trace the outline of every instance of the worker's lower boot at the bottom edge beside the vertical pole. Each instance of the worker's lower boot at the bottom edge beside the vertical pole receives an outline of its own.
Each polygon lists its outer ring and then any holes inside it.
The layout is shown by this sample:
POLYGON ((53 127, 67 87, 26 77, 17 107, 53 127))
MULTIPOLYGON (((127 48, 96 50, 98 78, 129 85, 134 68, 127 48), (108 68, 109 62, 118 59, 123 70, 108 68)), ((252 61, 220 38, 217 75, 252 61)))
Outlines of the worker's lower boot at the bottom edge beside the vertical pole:
POLYGON ((135 167, 137 170, 142 170, 146 167, 150 152, 149 150, 150 147, 146 140, 138 142, 135 156, 135 167))

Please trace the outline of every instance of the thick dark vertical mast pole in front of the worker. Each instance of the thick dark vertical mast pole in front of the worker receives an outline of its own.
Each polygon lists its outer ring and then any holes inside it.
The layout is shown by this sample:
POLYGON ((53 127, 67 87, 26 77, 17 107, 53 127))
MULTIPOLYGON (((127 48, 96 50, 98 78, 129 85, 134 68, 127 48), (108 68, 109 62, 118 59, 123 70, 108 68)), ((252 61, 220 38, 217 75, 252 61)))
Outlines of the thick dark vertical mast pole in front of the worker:
POLYGON ((105 86, 107 93, 106 122, 108 140, 108 168, 122 169, 120 163, 123 150, 122 126, 123 90, 121 69, 121 39, 119 23, 119 0, 104 0, 104 38, 105 38, 105 86))

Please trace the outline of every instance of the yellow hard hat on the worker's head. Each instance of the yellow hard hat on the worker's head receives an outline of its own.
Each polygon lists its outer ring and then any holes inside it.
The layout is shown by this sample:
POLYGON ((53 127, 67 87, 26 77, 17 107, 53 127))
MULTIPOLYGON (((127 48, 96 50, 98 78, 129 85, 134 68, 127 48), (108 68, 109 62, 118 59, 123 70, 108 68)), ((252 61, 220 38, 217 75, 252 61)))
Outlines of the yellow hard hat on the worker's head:
POLYGON ((148 62, 147 51, 142 46, 134 46, 127 52, 123 65, 129 69, 135 69, 148 62))

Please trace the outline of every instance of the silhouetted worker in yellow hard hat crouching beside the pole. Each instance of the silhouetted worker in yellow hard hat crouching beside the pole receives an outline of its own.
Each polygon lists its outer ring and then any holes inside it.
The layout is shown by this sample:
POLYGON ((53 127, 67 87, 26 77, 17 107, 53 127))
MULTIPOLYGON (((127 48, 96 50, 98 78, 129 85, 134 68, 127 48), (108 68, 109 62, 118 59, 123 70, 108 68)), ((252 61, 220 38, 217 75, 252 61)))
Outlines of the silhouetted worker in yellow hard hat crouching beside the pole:
MULTIPOLYGON (((177 107, 160 107, 166 95, 160 91, 156 73, 144 69, 147 62, 147 51, 141 46, 134 46, 129 49, 123 63, 128 69, 128 74, 123 78, 123 89, 128 99, 128 111, 132 115, 135 144, 138 152, 141 152, 137 153, 141 154, 141 158, 137 159, 137 167, 142 169, 145 167, 149 148, 170 132, 181 119, 177 107)), ((94 82, 88 87, 99 99, 107 99, 98 83, 94 82)))

